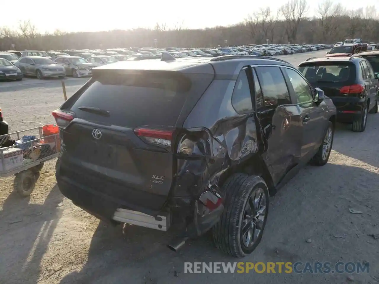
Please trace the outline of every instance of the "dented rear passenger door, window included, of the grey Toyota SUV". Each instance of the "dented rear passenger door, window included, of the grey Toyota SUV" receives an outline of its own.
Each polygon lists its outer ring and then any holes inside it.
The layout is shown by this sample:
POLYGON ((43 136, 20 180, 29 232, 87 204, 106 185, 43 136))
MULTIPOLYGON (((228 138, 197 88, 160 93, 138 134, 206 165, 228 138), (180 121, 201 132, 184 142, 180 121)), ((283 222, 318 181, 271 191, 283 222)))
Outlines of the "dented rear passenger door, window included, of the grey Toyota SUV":
POLYGON ((263 159, 276 185, 300 161, 301 112, 291 101, 280 67, 259 66, 253 69, 256 73, 253 76, 257 116, 263 129, 263 139, 267 141, 263 159), (257 89, 258 86, 260 89, 257 89), (259 94, 263 101, 260 101, 259 94))

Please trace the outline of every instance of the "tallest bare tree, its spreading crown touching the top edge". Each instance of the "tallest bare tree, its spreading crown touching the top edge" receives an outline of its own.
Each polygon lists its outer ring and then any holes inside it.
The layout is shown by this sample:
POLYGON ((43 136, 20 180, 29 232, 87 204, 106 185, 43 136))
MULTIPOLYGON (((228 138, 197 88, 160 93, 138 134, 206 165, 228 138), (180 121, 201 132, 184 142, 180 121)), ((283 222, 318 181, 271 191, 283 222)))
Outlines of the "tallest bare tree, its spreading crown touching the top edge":
POLYGON ((308 11, 307 0, 290 0, 280 8, 286 22, 288 41, 296 41, 300 21, 308 11))

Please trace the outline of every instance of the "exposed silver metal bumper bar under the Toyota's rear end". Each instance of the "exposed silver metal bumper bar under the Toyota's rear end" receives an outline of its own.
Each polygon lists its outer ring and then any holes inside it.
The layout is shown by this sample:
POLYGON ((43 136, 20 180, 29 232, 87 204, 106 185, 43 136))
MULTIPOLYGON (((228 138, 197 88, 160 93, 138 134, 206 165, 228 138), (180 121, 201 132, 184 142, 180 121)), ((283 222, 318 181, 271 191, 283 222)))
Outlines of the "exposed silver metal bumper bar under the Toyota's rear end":
POLYGON ((163 212, 154 217, 138 211, 119 208, 114 212, 113 220, 160 231, 167 231, 171 225, 169 212, 163 212))

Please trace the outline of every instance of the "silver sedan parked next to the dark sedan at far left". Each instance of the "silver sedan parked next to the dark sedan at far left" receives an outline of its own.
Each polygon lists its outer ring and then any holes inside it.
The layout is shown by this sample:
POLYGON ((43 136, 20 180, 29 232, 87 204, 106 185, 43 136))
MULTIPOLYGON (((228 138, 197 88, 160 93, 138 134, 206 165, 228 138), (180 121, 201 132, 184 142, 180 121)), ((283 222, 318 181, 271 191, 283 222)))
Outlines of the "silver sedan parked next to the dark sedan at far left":
POLYGON ((26 56, 15 63, 25 76, 64 78, 65 69, 49 58, 43 56, 26 56))

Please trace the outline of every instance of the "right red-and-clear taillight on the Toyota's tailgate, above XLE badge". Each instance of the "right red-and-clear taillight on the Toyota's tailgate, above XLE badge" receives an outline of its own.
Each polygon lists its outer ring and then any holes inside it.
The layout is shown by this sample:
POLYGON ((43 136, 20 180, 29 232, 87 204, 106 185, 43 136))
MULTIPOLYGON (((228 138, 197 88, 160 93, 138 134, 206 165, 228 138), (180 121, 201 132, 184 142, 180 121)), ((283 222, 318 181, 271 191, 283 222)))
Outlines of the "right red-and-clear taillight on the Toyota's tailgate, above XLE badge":
POLYGON ((150 128, 136 128, 134 133, 146 144, 171 149, 173 130, 160 130, 150 128))

